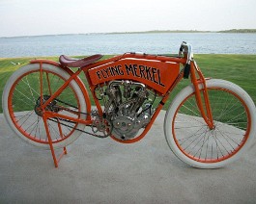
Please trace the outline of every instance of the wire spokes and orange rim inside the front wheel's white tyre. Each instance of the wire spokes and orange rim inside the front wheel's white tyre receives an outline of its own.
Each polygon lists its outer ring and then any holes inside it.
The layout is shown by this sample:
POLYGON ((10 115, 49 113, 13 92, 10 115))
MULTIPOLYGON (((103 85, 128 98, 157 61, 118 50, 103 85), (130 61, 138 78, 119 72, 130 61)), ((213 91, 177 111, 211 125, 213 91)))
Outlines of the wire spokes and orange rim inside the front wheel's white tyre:
POLYGON ((186 157, 202 163, 215 163, 239 151, 247 137, 248 119, 242 100, 232 91, 218 88, 208 91, 213 130, 198 112, 194 94, 191 94, 175 115, 173 131, 174 140, 186 157))

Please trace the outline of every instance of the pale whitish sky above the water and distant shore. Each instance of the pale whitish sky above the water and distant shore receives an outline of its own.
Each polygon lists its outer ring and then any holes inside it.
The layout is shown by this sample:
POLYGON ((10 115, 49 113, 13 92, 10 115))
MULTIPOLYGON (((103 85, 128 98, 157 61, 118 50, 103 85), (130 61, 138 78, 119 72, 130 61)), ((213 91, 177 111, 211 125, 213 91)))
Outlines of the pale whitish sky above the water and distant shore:
POLYGON ((0 0, 0 37, 256 28, 255 0, 0 0))

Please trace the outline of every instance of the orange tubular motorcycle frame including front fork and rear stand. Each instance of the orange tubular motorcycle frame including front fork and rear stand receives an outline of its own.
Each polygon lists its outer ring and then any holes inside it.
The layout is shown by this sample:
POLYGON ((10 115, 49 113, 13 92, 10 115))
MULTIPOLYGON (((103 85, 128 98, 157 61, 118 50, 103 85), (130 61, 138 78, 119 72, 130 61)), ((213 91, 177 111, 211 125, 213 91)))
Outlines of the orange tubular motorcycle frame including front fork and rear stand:
MULTIPOLYGON (((61 156, 59 157, 59 159, 56 158, 55 151, 54 151, 53 144, 52 144, 53 142, 51 140, 51 136, 49 133, 49 129, 48 129, 46 120, 50 117, 57 117, 57 118, 62 117, 62 118, 71 120, 73 122, 82 123, 85 125, 92 125, 93 120, 90 115, 91 114, 91 100, 89 98, 89 94, 88 94, 88 91, 87 91, 84 83, 81 81, 81 79, 79 78, 78 75, 82 71, 84 72, 84 74, 86 76, 86 80, 89 84, 89 89, 92 92, 93 99, 94 99, 96 107, 99 111, 99 115, 101 116, 103 114, 103 112, 102 112, 102 109, 100 106, 99 99, 97 98, 96 93, 95 93, 95 90, 97 89, 98 85, 92 83, 92 79, 89 74, 89 70, 91 70, 92 68, 104 65, 104 64, 110 64, 110 63, 118 62, 118 61, 128 59, 128 58, 129 59, 130 58, 137 59, 137 60, 162 62, 162 63, 183 64, 184 66, 188 64, 188 61, 187 61, 188 58, 186 55, 185 55, 185 57, 167 57, 167 56, 146 55, 146 54, 137 54, 137 53, 126 53, 124 55, 120 55, 120 56, 116 56, 116 57, 109 58, 106 60, 102 60, 100 62, 96 62, 94 64, 89 64, 84 67, 79 67, 75 72, 73 72, 69 67, 63 66, 62 64, 58 64, 53 61, 34 60, 34 61, 30 62, 31 64, 40 64, 41 109, 42 109, 42 113, 43 113, 43 122, 44 122, 45 132, 46 132, 46 135, 47 135, 47 138, 49 141, 49 146, 50 146, 50 150, 52 153, 53 161, 54 161, 54 164, 56 167, 58 166, 58 163, 59 163, 60 159, 62 158, 62 156, 64 154, 67 154, 67 149, 66 149, 66 147, 64 147, 64 151, 61 154, 61 156), (46 100, 44 103, 43 103, 43 64, 52 64, 52 65, 58 66, 58 67, 62 68, 63 70, 65 70, 67 73, 69 73, 69 75, 71 76, 57 91, 55 91, 53 94, 51 94, 50 98, 48 100, 46 100), (66 89, 72 80, 74 80, 78 84, 78 86, 81 89, 83 96, 85 98, 85 102, 87 105, 86 119, 74 118, 74 117, 71 117, 68 115, 61 115, 59 113, 53 113, 53 112, 49 112, 49 111, 45 110, 46 106, 54 98, 56 98, 64 89, 66 89)), ((210 106, 210 102, 209 102, 208 90, 206 87, 207 79, 204 77, 202 71, 197 66, 197 64, 193 61, 193 59, 189 60, 189 71, 190 71, 189 75, 190 75, 191 84, 194 86, 194 89, 195 89, 195 98, 196 98, 197 106, 198 106, 200 113, 201 113, 202 117, 204 118, 205 122, 208 124, 209 128, 213 129, 214 128, 213 127, 213 115, 212 115, 211 106, 210 106), (200 90, 199 85, 202 85, 203 89, 201 89, 201 90, 203 90, 203 91, 200 90), (203 96, 201 96, 200 92, 203 93, 203 96), (204 101, 204 103, 203 103, 203 101, 204 101)), ((110 137, 113 140, 116 140, 116 141, 119 141, 122 143, 133 143, 133 142, 143 139, 146 136, 146 134, 148 133, 148 131, 151 129, 151 127, 156 119, 156 116, 159 114, 159 112, 162 109, 162 107, 164 106, 165 102, 168 100, 171 91, 183 79, 184 73, 185 73, 185 68, 182 68, 180 70, 180 73, 178 74, 178 76, 176 77, 176 79, 174 80, 172 85, 170 86, 170 88, 167 89, 167 91, 164 94, 162 94, 162 99, 159 102, 159 104, 157 105, 156 111, 155 111, 154 115, 152 115, 151 121, 148 123, 148 125, 146 126, 144 131, 141 133, 141 135, 139 135, 138 137, 136 137, 132 140, 119 140, 113 136, 110 136, 110 137)), ((60 130, 61 137, 63 137, 62 130, 61 130, 60 126, 59 126, 59 130, 60 130)))

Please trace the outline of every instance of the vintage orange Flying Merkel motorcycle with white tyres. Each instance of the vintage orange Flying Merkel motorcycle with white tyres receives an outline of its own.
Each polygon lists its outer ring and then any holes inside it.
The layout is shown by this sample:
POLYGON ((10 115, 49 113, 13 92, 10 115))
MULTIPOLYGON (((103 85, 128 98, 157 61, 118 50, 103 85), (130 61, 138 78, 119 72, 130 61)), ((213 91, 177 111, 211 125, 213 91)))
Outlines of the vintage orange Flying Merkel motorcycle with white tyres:
POLYGON ((252 143, 252 99, 231 82, 205 78, 190 44, 183 42, 174 57, 125 53, 99 61, 101 57, 33 60, 5 86, 3 110, 10 127, 21 139, 50 149, 55 166, 54 149, 67 153, 66 146, 81 133, 122 143, 141 140, 172 90, 189 77, 191 85, 176 95, 164 120, 165 138, 175 155, 190 166, 217 168, 238 159, 252 143))

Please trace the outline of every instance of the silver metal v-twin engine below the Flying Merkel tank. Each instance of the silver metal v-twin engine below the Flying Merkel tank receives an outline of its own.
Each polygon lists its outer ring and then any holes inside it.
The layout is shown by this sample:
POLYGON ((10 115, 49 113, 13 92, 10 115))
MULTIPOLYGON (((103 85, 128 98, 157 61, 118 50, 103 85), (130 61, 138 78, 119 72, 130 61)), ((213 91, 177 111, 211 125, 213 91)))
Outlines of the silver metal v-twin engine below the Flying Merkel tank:
POLYGON ((111 135, 119 140, 134 138, 153 114, 150 90, 132 81, 111 81, 104 91, 104 114, 112 123, 111 135))

